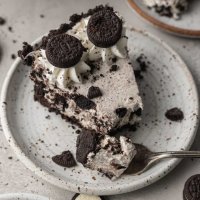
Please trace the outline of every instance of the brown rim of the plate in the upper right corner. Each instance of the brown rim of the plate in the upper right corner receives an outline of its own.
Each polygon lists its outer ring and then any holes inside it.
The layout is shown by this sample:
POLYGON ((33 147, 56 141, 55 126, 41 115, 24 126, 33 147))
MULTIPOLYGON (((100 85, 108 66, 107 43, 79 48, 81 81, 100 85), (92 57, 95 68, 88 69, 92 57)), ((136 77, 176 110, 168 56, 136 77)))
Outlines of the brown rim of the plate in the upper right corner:
POLYGON ((145 21, 154 25, 155 27, 167 31, 168 33, 175 34, 177 36, 189 37, 189 38, 200 38, 200 30, 191 30, 169 25, 159 19, 150 16, 147 12, 143 11, 134 0, 127 0, 129 6, 136 11, 145 21))

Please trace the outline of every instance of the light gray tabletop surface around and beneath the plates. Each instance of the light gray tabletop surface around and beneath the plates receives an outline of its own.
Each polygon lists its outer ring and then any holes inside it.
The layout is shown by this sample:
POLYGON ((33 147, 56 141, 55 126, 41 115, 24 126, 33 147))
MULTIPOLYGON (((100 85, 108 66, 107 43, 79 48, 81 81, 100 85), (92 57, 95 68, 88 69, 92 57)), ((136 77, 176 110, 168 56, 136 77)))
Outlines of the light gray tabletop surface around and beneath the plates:
MULTIPOLYGON (((142 21, 125 0, 1 0, 0 15, 6 18, 7 23, 0 26, 0 46, 3 52, 0 62, 0 85, 13 62, 11 54, 16 54, 23 41, 32 42, 66 21, 75 12, 86 11, 97 4, 108 2, 120 11, 128 25, 148 30, 172 46, 186 62, 197 87, 200 88, 200 40, 179 38, 153 28, 142 21), (41 14, 44 14, 44 18, 40 17, 41 14), (12 32, 8 31, 9 26, 13 28, 12 32), (13 43, 13 40, 17 42, 13 43)), ((200 149, 199 141, 200 132, 197 133, 193 149, 200 149)), ((155 184, 108 199, 181 200, 186 179, 195 173, 200 173, 200 160, 184 160, 169 175, 155 184)), ((71 199, 74 195, 45 182, 27 169, 9 147, 0 127, 0 193, 11 192, 30 192, 55 200, 71 199)))

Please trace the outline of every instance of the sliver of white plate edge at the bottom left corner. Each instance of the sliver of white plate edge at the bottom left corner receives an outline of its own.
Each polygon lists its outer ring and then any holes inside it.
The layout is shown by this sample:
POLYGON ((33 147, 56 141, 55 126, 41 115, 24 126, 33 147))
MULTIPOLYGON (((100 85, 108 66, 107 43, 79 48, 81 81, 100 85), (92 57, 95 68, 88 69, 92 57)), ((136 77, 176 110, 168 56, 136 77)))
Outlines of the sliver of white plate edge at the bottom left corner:
POLYGON ((35 194, 10 193, 10 194, 0 194, 0 200, 52 200, 52 199, 35 194))

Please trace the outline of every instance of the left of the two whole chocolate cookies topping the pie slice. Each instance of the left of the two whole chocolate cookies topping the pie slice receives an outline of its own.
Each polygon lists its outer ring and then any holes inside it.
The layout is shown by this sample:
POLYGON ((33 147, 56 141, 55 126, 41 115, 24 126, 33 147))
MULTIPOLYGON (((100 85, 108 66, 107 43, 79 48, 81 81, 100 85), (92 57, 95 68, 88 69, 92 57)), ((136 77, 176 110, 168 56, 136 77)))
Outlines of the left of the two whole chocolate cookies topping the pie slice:
POLYGON ((48 41, 46 56, 52 65, 60 68, 69 68, 80 61, 83 51, 84 47, 77 38, 61 34, 48 41))

